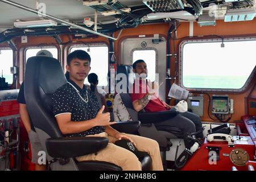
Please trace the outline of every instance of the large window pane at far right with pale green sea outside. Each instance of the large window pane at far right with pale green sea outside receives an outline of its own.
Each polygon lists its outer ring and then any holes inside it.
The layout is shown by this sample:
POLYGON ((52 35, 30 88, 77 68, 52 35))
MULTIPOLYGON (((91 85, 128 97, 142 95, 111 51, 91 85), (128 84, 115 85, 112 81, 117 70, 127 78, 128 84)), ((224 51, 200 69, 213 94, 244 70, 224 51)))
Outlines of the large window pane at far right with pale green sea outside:
POLYGON ((255 70, 256 40, 187 42, 181 46, 180 76, 184 88, 245 89, 255 70))

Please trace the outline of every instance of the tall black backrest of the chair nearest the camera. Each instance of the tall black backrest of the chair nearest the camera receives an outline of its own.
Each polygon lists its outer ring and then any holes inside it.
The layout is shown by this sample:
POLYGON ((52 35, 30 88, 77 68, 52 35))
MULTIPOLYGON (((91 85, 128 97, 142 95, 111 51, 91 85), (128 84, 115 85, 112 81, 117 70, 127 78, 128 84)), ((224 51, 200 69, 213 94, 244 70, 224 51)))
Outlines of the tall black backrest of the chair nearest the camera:
POLYGON ((51 137, 61 133, 52 114, 51 94, 67 83, 60 62, 52 57, 34 56, 27 60, 24 96, 34 126, 51 137))

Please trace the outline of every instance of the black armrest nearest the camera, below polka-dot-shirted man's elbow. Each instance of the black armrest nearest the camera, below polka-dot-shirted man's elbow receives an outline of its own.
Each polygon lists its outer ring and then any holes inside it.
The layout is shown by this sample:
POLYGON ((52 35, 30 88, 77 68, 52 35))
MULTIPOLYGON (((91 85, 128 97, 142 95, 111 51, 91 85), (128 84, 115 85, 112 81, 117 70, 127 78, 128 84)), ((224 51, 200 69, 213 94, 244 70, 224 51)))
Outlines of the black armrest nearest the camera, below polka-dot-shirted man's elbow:
POLYGON ((60 137, 46 140, 47 152, 52 158, 75 158, 92 154, 109 143, 105 137, 60 137))

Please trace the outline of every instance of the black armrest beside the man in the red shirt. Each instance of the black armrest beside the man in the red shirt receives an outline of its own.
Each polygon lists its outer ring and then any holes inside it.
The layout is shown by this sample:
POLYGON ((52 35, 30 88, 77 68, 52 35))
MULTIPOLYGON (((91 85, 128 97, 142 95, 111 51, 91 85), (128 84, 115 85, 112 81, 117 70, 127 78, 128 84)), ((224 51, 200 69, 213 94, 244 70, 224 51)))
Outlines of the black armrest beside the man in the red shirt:
POLYGON ((138 113, 138 120, 142 124, 157 123, 173 118, 178 114, 176 110, 159 111, 154 113, 138 113))

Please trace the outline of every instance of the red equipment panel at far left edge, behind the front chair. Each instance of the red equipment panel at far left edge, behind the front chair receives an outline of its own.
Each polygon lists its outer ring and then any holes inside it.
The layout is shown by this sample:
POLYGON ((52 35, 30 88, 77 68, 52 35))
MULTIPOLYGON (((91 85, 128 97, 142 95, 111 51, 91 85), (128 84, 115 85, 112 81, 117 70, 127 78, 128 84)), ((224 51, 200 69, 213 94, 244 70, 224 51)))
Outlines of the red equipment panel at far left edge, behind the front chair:
MULTIPOLYGON (((28 152, 29 155, 24 150, 24 148, 27 148, 28 135, 23 123, 20 122, 19 104, 16 101, 18 93, 18 89, 0 90, 0 142, 9 143, 10 145, 16 141, 19 143, 19 158, 15 145, 14 149, 9 151, 9 159, 5 158, 6 163, 10 164, 10 169, 34 170, 35 165, 29 159, 31 158, 31 150, 28 152)), ((7 149, 10 149, 10 147, 7 147, 7 149)), ((1 156, 5 156, 5 150, 1 151, 0 148, 1 156)))

